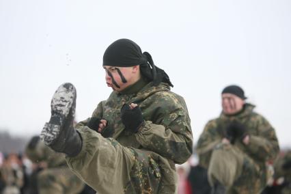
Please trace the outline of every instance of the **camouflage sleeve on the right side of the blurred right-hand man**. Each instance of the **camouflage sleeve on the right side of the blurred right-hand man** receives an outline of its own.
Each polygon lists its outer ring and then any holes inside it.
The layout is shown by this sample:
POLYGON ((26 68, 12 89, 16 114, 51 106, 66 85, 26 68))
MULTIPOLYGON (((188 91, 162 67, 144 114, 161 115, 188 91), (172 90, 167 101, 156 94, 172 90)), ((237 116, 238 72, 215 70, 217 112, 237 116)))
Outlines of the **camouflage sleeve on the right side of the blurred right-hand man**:
POLYGON ((274 128, 269 122, 257 115, 258 135, 250 135, 248 152, 262 161, 274 160, 279 153, 279 143, 274 128))

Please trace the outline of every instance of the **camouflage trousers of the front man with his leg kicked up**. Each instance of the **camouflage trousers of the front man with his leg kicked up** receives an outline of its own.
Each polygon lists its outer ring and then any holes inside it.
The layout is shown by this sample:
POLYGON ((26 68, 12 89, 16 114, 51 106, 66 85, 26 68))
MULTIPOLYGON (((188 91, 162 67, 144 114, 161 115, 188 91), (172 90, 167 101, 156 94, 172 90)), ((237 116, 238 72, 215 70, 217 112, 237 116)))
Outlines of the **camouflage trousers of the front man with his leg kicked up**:
POLYGON ((83 126, 80 154, 66 158, 79 178, 98 193, 176 193, 174 165, 154 152, 127 148, 83 126))

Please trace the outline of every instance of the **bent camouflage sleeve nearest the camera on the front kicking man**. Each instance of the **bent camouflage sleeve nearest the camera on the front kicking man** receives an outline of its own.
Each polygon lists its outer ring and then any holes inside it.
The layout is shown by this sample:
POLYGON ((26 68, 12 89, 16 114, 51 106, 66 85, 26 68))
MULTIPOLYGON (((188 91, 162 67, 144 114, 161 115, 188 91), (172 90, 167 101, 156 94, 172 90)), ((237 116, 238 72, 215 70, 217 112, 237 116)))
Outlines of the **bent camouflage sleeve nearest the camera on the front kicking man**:
POLYGON ((156 113, 160 115, 157 119, 159 122, 154 124, 146 121, 136 135, 137 141, 143 148, 170 158, 175 163, 184 163, 193 152, 190 118, 185 107, 175 106, 171 102, 169 105, 156 113))

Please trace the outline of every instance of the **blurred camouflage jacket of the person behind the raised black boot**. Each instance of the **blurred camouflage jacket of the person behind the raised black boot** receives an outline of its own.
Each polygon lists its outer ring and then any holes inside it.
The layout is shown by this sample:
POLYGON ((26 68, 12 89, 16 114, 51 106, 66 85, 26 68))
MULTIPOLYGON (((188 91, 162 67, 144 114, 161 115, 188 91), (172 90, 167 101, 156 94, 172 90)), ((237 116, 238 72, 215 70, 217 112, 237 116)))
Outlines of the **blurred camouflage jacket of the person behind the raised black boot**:
POLYGON ((25 148, 25 154, 33 163, 45 162, 48 168, 66 165, 64 154, 51 150, 42 141, 38 141, 35 148, 25 148))

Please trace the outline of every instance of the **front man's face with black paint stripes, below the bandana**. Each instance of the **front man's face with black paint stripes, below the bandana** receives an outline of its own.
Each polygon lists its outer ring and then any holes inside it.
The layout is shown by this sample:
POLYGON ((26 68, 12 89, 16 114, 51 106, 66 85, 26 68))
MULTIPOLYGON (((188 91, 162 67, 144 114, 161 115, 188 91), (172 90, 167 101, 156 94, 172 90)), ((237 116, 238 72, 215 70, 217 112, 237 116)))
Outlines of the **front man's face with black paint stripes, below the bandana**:
POLYGON ((103 66, 106 72, 106 83, 108 87, 111 87, 114 91, 120 92, 124 88, 128 87, 136 81, 137 66, 133 67, 113 67, 103 66))

